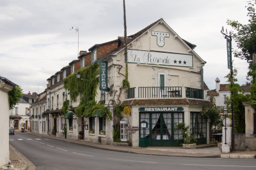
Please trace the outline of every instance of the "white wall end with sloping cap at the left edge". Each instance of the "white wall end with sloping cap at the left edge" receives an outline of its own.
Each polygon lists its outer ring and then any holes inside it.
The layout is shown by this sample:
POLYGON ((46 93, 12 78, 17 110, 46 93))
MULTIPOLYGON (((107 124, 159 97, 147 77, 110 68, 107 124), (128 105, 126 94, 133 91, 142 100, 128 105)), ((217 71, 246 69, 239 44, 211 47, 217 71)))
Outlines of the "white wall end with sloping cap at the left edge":
POLYGON ((9 152, 9 110, 10 104, 8 92, 12 91, 15 83, 0 76, 0 167, 8 164, 10 160, 9 152))

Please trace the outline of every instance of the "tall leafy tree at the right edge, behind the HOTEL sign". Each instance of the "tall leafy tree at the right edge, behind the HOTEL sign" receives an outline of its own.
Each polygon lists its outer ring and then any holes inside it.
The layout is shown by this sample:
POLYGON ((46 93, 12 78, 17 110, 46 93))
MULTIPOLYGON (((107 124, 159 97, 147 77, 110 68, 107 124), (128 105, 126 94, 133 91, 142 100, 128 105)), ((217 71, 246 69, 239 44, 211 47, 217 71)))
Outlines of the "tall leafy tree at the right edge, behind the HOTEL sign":
POLYGON ((234 50, 234 56, 246 60, 249 63, 247 79, 251 81, 250 93, 251 104, 256 109, 256 64, 253 55, 256 53, 256 13, 255 13, 256 0, 248 1, 248 24, 241 24, 238 21, 228 20, 227 24, 230 25, 234 31, 231 32, 232 38, 237 43, 237 48, 234 50))

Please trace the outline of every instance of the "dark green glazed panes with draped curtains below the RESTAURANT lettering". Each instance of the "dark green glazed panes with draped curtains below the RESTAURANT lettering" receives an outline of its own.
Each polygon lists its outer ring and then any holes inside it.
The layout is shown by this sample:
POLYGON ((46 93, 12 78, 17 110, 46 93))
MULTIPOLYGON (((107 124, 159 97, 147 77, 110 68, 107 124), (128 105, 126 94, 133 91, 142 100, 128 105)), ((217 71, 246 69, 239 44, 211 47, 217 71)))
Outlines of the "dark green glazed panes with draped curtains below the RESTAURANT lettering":
POLYGON ((140 113, 140 122, 148 122, 148 128, 140 128, 140 138, 148 138, 148 146, 179 146, 182 132, 175 131, 175 123, 184 122, 182 112, 140 113))

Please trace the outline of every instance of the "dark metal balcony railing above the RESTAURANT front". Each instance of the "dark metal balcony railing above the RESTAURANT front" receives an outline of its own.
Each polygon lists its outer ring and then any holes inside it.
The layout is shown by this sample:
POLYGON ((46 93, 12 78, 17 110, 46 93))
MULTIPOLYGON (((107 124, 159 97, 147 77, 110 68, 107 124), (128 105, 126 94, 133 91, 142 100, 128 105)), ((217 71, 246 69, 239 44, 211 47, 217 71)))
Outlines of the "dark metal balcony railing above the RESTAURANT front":
POLYGON ((127 99, 159 99, 189 97, 194 99, 204 99, 204 90, 189 87, 132 87, 127 91, 127 99), (182 89, 186 94, 182 96, 182 89))

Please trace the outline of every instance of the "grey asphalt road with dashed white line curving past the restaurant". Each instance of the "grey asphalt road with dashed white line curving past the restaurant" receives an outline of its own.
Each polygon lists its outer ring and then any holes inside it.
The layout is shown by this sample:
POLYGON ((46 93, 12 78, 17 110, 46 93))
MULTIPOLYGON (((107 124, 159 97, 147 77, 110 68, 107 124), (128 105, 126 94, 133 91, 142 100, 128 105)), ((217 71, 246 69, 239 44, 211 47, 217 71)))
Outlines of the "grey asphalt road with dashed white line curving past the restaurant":
POLYGON ((10 144, 36 169, 256 169, 255 159, 163 157, 99 150, 15 132, 10 144))

